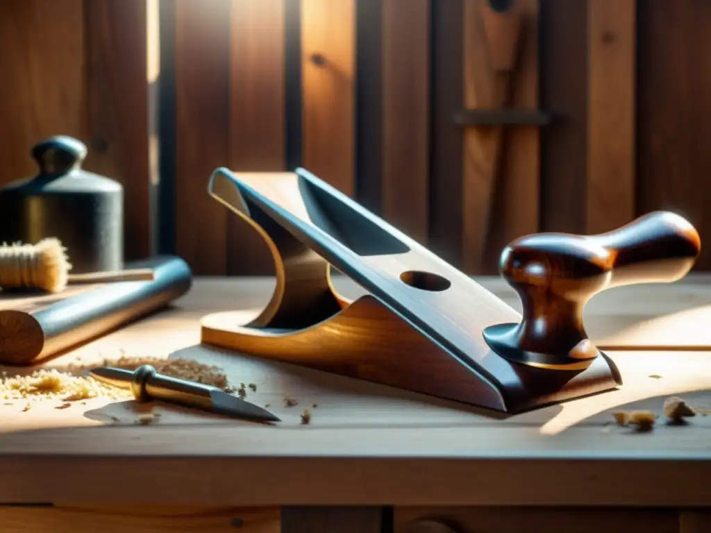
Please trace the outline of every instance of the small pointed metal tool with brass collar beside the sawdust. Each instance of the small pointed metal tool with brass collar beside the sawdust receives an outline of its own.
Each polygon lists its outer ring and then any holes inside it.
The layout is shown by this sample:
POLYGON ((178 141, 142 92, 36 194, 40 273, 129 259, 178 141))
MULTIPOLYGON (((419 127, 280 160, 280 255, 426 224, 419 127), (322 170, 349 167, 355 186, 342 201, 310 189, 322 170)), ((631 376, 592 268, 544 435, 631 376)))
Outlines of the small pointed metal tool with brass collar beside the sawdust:
POLYGON ((114 387, 130 388, 137 402, 161 399, 241 419, 280 421, 267 409, 232 396, 217 387, 159 374, 151 365, 142 365, 134 372, 122 368, 102 367, 92 369, 90 373, 96 379, 114 387))

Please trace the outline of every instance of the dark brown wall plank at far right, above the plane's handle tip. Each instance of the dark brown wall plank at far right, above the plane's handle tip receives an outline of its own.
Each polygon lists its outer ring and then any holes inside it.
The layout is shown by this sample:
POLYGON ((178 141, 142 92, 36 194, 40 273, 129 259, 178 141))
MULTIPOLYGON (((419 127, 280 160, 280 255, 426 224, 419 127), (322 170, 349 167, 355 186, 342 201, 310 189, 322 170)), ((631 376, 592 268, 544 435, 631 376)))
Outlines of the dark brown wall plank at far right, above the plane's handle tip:
MULTIPOLYGON (((711 71, 699 66, 711 47, 710 23, 705 1, 639 3, 637 208, 678 210, 701 235, 711 231, 711 71)), ((711 267, 711 247, 696 267, 711 267)))

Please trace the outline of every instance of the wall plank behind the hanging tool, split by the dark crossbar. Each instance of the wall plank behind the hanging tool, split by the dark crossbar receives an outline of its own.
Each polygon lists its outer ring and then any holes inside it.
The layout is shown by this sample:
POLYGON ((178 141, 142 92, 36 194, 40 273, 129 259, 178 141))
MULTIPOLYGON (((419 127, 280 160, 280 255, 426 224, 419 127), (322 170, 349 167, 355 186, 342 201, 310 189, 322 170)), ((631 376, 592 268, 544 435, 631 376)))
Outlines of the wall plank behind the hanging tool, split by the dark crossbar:
MULTIPOLYGON (((519 0, 518 60, 494 69, 483 0, 464 1, 464 104, 467 109, 538 105, 538 0, 519 0)), ((464 133, 464 269, 496 272, 498 252, 511 239, 538 230, 538 130, 502 126, 464 133)))

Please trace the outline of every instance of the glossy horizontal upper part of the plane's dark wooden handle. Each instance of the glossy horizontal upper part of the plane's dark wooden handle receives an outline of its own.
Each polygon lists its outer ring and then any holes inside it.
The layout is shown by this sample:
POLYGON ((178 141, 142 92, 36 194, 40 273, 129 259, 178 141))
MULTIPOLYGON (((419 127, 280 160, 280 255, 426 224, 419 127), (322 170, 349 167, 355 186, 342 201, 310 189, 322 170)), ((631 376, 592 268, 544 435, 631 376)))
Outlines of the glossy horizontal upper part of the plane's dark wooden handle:
POLYGON ((676 281, 700 249, 699 234, 687 220, 653 212, 601 235, 516 239, 501 254, 501 274, 525 301, 535 301, 541 290, 587 301, 612 286, 676 281))

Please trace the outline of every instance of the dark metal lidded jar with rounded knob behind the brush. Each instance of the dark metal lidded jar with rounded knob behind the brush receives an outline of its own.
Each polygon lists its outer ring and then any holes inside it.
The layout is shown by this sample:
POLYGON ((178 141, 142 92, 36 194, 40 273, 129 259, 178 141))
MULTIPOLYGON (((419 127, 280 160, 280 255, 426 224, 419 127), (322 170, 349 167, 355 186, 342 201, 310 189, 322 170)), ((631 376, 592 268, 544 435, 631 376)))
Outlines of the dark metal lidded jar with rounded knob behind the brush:
POLYGON ((123 268, 123 188, 83 171, 87 147, 53 136, 32 149, 40 173, 0 189, 0 242, 57 237, 73 274, 123 268))

